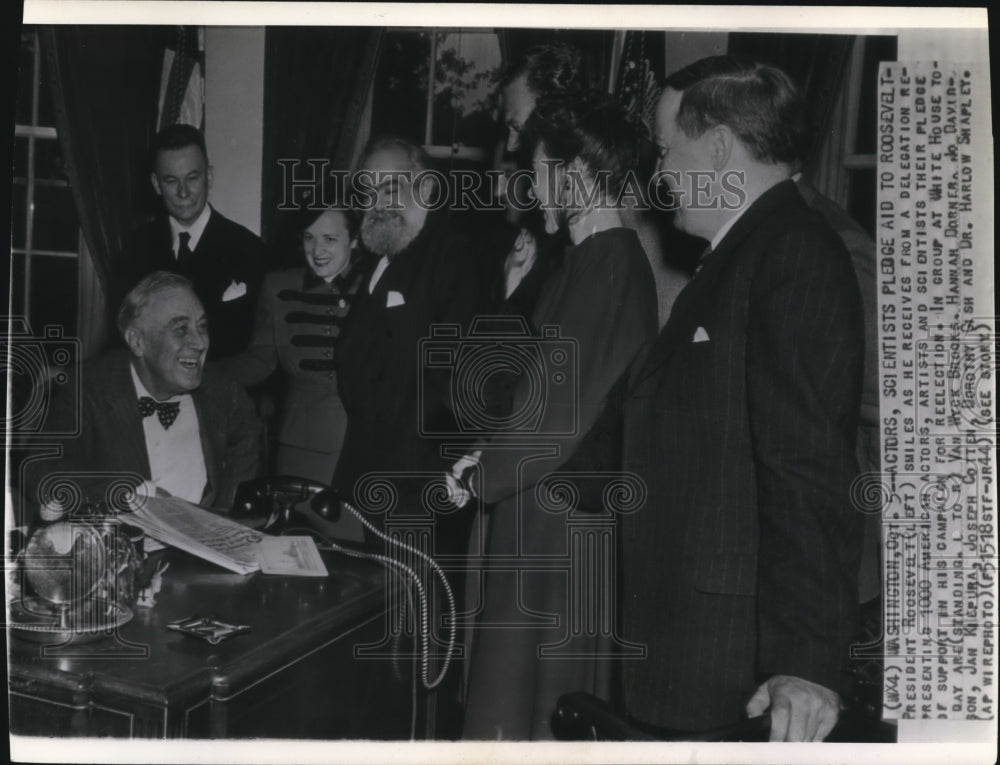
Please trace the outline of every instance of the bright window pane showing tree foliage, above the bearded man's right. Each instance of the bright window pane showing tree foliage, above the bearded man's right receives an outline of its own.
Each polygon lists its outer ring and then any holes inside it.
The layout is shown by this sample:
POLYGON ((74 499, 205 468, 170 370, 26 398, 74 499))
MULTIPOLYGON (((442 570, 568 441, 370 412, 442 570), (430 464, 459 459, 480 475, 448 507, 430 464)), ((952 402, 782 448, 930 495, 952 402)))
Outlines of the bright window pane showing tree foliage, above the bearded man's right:
POLYGON ((500 41, 492 32, 439 32, 431 143, 486 148, 493 133, 500 41))

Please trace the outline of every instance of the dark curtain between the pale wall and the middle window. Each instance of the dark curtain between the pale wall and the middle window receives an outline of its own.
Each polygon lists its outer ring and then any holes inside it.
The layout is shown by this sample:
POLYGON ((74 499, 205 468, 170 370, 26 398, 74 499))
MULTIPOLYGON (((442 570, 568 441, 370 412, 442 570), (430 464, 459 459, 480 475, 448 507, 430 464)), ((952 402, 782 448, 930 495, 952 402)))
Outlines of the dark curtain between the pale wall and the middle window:
MULTIPOLYGON (((267 29, 261 234, 279 253, 287 249, 290 216, 278 210, 285 193, 278 160, 328 160, 331 169, 350 169, 382 34, 377 27, 267 29)), ((311 173, 303 164, 296 177, 311 173)))

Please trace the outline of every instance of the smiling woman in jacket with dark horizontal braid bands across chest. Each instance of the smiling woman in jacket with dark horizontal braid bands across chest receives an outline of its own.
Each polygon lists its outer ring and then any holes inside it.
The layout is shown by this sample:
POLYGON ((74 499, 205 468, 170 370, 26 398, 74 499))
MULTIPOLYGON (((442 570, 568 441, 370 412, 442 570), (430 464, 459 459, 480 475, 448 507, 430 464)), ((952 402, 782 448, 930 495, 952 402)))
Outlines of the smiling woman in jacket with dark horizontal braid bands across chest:
POLYGON ((354 256, 357 224, 349 210, 304 210, 298 231, 305 265, 267 274, 250 347, 219 366, 245 386, 280 366, 288 387, 275 470, 327 484, 347 427, 337 393, 337 337, 365 269, 354 256))

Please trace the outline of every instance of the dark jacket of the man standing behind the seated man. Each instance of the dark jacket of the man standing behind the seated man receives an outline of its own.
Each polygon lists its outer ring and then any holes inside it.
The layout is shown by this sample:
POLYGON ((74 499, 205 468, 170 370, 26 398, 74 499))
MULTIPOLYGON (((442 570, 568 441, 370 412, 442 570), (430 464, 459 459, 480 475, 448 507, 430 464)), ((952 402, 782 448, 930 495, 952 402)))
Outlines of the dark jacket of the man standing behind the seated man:
POLYGON ((133 232, 119 270, 118 288, 112 302, 114 310, 118 310, 125 294, 147 274, 153 271, 183 274, 194 284, 208 315, 209 358, 226 358, 246 349, 266 268, 263 242, 256 234, 213 209, 188 263, 177 262, 172 243, 166 215, 133 232), (245 294, 223 300, 233 283, 245 285, 245 294))

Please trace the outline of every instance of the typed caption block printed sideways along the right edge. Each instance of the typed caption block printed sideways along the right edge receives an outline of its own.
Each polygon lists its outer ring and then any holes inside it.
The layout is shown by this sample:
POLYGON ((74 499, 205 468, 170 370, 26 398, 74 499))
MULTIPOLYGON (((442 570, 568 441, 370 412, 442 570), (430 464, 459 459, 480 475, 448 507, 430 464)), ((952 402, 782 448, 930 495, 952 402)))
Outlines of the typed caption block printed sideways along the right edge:
POLYGON ((878 103, 884 714, 996 708, 989 72, 889 63, 878 103))

